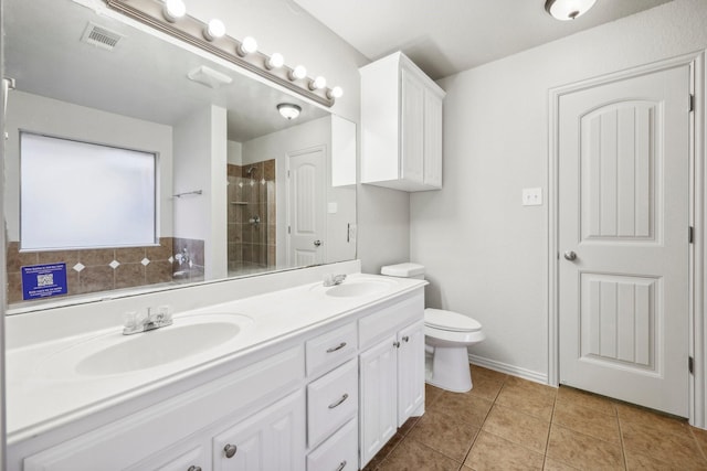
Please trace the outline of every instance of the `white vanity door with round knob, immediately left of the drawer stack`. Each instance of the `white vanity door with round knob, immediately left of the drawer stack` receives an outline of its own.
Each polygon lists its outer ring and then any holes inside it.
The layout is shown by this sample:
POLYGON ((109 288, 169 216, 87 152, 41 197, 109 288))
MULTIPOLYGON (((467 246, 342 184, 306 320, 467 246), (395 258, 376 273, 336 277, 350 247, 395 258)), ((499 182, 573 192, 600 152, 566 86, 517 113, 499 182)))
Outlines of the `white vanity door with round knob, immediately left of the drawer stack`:
POLYGON ((213 438, 214 471, 305 468, 305 397, 298 390, 213 438))

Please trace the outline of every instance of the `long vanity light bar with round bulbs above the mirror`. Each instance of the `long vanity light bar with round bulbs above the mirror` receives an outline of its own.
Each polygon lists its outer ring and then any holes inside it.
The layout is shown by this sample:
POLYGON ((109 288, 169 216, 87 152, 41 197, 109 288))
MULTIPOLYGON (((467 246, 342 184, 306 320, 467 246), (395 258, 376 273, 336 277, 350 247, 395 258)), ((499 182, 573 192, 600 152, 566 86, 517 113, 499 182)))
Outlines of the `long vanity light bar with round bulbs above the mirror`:
MULTIPOLYGON (((134 20, 210 52, 320 105, 330 107, 336 98, 341 96, 340 87, 331 89, 326 86, 314 87, 313 84, 316 79, 294 74, 297 67, 291 68, 284 64, 274 66, 274 63, 277 64, 282 61, 282 56, 273 54, 277 57, 274 57, 275 61, 271 61, 270 56, 256 50, 257 44, 250 36, 245 38, 243 42, 228 34, 217 36, 212 34, 207 23, 189 14, 179 18, 166 14, 166 3, 161 0, 105 0, 105 2, 109 8, 134 20)), ((304 67, 302 68, 304 69, 304 67)))

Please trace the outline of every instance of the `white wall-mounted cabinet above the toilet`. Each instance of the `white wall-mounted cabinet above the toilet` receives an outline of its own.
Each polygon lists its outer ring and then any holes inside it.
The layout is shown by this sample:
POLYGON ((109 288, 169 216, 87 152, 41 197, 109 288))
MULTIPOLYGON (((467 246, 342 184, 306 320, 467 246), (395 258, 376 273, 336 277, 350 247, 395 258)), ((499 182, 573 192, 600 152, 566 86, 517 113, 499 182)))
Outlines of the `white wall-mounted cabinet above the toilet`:
POLYGON ((441 189, 445 92, 401 52, 360 73, 361 183, 441 189))

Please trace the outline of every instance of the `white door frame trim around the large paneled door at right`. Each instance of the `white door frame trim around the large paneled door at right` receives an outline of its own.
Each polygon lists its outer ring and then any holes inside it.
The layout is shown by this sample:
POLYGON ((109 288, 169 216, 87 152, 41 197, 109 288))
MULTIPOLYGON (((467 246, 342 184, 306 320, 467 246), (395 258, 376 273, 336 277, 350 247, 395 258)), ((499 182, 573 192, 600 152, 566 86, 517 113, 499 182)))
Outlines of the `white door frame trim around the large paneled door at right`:
MULTIPOLYGON (((559 314, 559 104, 563 95, 580 92, 598 85, 646 75, 668 68, 688 65, 690 67, 690 89, 694 95, 694 113, 689 116, 689 225, 695 237, 689 245, 688 281, 688 354, 695 358, 694 373, 688 375, 688 419, 689 424, 707 426, 707 323, 705 322, 707 293, 707 158, 705 136, 707 133, 705 109, 705 51, 679 55, 639 67, 602 75, 578 83, 550 88, 548 94, 548 384, 559 386, 560 382, 560 314, 559 314)), ((688 97, 685 97, 687 106, 688 97)), ((687 235, 686 235, 687 236, 687 235)), ((687 368, 687 365, 685 365, 687 368)))

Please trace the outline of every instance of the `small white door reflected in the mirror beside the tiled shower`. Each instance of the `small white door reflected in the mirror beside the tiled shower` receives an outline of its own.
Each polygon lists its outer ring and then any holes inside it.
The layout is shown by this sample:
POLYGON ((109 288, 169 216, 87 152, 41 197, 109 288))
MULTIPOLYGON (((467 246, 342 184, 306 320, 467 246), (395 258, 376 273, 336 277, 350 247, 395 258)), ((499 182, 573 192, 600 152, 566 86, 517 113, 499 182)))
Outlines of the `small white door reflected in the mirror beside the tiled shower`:
POLYGON ((319 265, 325 259, 325 147, 316 147, 287 154, 287 263, 291 267, 319 265))

